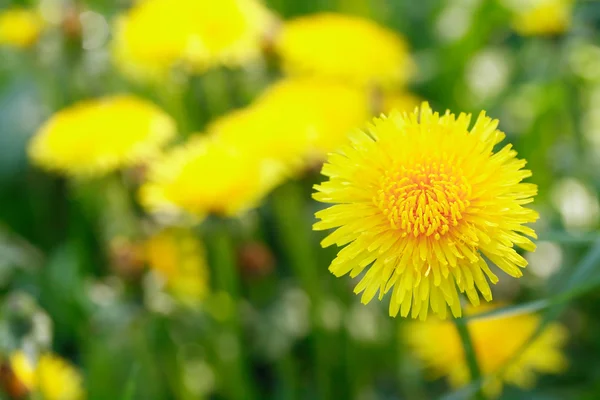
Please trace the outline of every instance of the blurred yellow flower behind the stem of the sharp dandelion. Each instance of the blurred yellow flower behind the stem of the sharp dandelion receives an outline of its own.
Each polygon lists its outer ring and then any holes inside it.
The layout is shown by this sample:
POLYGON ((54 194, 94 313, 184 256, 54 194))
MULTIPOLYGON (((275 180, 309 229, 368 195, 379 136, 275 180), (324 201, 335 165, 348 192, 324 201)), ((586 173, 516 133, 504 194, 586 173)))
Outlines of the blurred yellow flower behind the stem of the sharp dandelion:
MULTIPOLYGON (((478 312, 496 307, 483 306, 478 312)), ((474 309, 469 307, 465 312, 474 314, 474 309)), ((482 318, 468 323, 481 372, 489 378, 484 386, 489 396, 499 395, 503 383, 530 389, 535 384, 536 373, 559 373, 566 368, 561 347, 567 340, 567 330, 558 323, 546 327, 526 350, 521 351, 539 322, 538 315, 523 314, 482 318), (500 372, 506 363, 509 363, 506 369, 500 372)), ((446 376, 453 387, 469 382, 469 368, 452 322, 412 323, 403 333, 434 377, 446 376)))

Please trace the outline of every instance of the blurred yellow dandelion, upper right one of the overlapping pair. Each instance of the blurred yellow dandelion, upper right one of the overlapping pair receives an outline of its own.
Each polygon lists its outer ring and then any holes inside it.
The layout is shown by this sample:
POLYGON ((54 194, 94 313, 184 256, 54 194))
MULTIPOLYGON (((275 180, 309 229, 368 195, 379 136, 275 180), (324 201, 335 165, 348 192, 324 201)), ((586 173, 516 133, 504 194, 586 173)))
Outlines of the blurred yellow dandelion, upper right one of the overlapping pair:
POLYGON ((314 78, 272 85, 250 106, 214 121, 207 131, 242 151, 301 169, 323 159, 369 117, 366 91, 314 78))

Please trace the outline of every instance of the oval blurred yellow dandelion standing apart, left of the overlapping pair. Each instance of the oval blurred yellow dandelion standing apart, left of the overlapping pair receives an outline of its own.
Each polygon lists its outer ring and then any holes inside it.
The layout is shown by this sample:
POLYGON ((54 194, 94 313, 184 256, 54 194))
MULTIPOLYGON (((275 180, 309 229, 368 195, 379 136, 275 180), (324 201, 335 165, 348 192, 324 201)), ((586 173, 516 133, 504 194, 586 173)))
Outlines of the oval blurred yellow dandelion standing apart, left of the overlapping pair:
POLYGON ((29 156, 46 169, 92 177, 154 156, 175 132, 175 122, 154 104, 105 97, 54 114, 32 138, 29 156))

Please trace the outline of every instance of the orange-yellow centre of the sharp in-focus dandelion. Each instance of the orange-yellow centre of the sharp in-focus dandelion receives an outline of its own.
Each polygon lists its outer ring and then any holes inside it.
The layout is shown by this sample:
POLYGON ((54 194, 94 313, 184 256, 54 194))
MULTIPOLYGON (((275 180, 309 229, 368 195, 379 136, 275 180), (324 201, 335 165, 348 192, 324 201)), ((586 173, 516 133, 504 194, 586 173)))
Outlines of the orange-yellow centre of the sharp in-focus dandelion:
POLYGON ((386 171, 373 200, 403 237, 437 240, 458 225, 470 194, 471 185, 460 168, 427 162, 386 171))

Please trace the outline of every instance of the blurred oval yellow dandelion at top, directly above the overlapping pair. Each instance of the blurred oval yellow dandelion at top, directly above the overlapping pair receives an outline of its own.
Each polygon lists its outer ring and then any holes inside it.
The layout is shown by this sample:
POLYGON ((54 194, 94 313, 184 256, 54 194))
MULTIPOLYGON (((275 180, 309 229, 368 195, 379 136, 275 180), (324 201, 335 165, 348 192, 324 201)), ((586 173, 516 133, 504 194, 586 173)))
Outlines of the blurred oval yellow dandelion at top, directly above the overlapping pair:
POLYGON ((291 74, 358 85, 402 84, 412 68, 402 37, 349 15, 322 13, 290 20, 283 24, 275 46, 291 74))

